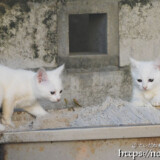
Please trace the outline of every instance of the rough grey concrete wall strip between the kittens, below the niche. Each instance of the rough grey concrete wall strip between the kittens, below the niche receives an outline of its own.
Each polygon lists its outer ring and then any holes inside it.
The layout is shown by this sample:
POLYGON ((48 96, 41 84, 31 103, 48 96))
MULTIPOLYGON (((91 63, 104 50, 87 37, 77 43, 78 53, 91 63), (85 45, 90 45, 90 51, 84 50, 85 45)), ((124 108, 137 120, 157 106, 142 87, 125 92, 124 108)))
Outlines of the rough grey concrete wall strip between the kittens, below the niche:
POLYGON ((108 66, 102 70, 67 70, 63 77, 63 94, 59 103, 43 101, 46 109, 97 105, 106 96, 129 100, 131 96, 131 76, 129 68, 117 69, 108 66))

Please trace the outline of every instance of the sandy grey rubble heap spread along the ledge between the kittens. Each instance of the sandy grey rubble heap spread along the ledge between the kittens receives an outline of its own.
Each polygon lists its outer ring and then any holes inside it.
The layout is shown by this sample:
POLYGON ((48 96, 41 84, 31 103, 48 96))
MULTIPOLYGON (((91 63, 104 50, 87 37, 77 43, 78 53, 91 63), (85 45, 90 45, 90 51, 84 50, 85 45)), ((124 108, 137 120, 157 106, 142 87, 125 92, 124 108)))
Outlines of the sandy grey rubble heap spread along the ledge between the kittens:
POLYGON ((160 123, 160 110, 149 106, 132 106, 127 101, 107 97, 99 105, 49 110, 49 115, 36 119, 27 113, 17 112, 13 116, 13 122, 15 127, 7 127, 5 132, 65 127, 149 125, 160 123))

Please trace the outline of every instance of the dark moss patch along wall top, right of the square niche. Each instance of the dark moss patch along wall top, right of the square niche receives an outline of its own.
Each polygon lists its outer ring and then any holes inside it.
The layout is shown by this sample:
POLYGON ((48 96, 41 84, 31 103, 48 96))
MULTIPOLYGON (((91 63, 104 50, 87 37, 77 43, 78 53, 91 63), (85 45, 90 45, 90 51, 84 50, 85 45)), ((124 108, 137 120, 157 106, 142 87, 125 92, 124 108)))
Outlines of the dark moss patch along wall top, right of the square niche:
POLYGON ((150 0, 121 0, 120 6, 128 5, 131 8, 134 8, 137 5, 137 3, 140 3, 141 6, 145 6, 147 4, 152 5, 150 0))

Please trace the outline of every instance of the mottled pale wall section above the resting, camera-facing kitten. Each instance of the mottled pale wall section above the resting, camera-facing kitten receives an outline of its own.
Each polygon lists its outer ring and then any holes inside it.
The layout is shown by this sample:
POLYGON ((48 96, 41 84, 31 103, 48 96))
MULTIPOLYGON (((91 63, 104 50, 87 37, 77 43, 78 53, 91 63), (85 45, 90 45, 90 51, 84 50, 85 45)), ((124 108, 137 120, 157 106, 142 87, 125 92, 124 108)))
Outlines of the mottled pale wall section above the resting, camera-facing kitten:
POLYGON ((121 2, 124 3, 119 11, 120 65, 128 65, 129 56, 156 59, 160 55, 160 1, 121 2))

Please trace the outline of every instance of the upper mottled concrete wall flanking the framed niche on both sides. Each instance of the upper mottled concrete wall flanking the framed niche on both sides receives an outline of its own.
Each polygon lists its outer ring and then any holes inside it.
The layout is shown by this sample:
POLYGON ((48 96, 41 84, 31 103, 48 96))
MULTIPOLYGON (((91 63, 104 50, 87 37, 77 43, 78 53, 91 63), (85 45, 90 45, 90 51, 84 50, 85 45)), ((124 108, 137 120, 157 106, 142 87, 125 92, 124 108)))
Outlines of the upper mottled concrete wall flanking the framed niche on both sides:
MULTIPOLYGON (((2 0, 0 63, 21 68, 56 66, 57 14, 68 1, 72 0, 2 0)), ((128 65, 129 55, 137 59, 158 57, 160 2, 115 0, 117 1, 120 66, 128 65)))

